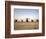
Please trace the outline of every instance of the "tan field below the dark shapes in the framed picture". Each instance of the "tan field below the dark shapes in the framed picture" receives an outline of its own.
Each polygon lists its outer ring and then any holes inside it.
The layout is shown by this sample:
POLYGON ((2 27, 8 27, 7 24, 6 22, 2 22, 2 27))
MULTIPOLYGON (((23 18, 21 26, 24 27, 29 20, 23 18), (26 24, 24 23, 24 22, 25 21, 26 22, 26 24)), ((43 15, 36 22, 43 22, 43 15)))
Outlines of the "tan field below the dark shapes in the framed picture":
POLYGON ((38 29, 38 22, 16 22, 14 24, 15 30, 38 29))

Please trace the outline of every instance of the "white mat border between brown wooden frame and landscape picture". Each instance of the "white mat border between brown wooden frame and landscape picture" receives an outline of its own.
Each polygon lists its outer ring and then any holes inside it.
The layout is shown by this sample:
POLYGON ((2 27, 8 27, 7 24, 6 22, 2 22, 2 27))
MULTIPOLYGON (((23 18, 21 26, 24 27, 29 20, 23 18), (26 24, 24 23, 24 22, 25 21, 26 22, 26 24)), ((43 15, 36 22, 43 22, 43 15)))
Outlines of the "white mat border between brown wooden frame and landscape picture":
POLYGON ((11 34, 42 33, 42 7, 11 5, 11 34), (39 29, 37 30, 14 30, 14 8, 39 9, 39 29))

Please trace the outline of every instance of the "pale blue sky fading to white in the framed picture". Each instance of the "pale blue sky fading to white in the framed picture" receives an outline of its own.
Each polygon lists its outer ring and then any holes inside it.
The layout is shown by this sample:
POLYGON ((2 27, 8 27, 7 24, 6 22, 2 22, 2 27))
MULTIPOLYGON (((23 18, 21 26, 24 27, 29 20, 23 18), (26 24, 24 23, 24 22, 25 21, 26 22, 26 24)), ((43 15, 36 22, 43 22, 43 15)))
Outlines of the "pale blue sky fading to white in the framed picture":
POLYGON ((38 19, 39 18, 39 9, 19 9, 15 8, 14 9, 14 18, 15 19, 23 19, 25 20, 26 18, 29 19, 38 19))

